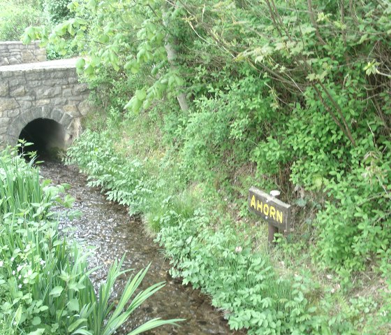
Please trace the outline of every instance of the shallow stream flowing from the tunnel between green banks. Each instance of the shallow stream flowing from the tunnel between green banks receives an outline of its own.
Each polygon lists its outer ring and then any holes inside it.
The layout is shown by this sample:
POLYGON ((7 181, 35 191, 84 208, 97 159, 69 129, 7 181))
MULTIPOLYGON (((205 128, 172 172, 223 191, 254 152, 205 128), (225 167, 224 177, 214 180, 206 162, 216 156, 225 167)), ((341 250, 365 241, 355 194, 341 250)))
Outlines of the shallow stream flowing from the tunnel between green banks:
MULTIPOLYGON (((74 166, 47 162, 40 166, 43 178, 51 179, 54 184, 68 183, 68 194, 75 198, 74 209, 82 212, 75 220, 63 220, 59 228, 64 231, 71 228, 73 236, 82 245, 96 248, 89 264, 101 266, 92 280, 98 283, 105 279, 110 264, 126 254, 124 267, 139 271, 149 263, 149 272, 143 281, 143 287, 165 281, 166 285, 147 299, 132 315, 132 319, 119 334, 134 329, 152 318, 184 318, 182 327, 166 325, 144 334, 158 335, 202 335, 202 334, 244 334, 230 331, 223 313, 210 305, 210 299, 193 290, 191 286, 182 286, 180 280, 172 279, 168 273, 170 264, 153 239, 143 229, 140 220, 131 220, 123 206, 105 200, 98 189, 87 186, 87 178, 78 173, 74 166)), ((136 273, 136 272, 134 272, 136 273)), ((131 273, 119 278, 116 291, 120 292, 131 273)))

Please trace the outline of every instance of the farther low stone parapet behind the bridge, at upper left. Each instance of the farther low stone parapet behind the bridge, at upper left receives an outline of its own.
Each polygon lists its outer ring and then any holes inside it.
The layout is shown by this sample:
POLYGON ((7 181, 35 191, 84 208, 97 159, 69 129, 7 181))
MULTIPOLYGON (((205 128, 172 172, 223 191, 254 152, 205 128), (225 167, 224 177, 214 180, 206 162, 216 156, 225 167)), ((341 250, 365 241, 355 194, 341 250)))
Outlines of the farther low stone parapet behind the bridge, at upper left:
POLYGON ((45 62, 46 50, 39 42, 24 45, 22 42, 0 42, 0 66, 45 62))

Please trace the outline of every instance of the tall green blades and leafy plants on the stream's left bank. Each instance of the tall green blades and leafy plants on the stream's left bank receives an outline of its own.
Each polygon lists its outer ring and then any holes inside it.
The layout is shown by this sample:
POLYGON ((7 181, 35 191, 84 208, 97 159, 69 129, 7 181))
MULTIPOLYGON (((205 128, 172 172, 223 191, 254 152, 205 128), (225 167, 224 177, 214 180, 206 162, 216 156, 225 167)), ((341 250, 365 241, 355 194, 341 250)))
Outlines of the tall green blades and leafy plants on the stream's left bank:
MULTIPOLYGON (((64 186, 40 180, 34 161, 15 150, 0 155, 0 330, 1 334, 110 335, 164 283, 135 294, 147 269, 130 278, 119 304, 110 302, 115 281, 127 271, 123 259, 114 262, 99 292, 89 275, 88 252, 59 236, 50 208, 64 186)), ((149 320, 135 335, 179 320, 149 320)))

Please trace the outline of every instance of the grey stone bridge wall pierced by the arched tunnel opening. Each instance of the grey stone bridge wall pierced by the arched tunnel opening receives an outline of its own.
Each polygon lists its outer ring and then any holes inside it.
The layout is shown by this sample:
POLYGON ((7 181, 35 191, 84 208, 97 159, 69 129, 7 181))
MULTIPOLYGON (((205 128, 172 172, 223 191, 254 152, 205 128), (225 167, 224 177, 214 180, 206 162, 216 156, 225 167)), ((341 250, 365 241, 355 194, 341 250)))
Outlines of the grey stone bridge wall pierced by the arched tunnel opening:
POLYGON ((22 129, 38 118, 59 122, 71 144, 89 111, 88 97, 75 59, 0 66, 0 146, 15 145, 22 129))

